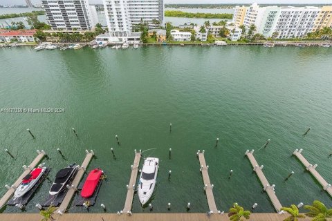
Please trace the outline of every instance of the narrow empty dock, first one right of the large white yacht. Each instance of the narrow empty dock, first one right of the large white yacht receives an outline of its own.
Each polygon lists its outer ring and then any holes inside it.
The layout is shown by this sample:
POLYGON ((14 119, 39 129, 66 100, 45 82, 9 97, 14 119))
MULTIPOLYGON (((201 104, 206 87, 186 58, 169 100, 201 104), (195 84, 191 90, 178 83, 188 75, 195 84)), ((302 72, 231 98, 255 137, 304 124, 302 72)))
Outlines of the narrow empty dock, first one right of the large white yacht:
POLYGON ((214 195, 212 192, 213 186, 210 183, 210 177, 208 173, 208 167, 205 163, 204 152, 201 153, 200 151, 197 153, 199 156, 199 164, 201 165, 201 172, 204 182, 204 189, 206 193, 206 198, 208 199, 209 211, 212 213, 219 213, 218 209, 216 209, 216 202, 214 202, 214 195))

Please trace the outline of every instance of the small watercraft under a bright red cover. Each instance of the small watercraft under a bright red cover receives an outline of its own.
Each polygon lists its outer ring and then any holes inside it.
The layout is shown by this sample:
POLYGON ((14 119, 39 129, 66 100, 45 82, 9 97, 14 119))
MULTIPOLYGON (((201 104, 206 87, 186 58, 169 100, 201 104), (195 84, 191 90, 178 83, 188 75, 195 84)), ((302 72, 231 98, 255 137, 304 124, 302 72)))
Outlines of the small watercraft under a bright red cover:
POLYGON ((82 198, 90 198, 93 195, 95 189, 98 186, 98 183, 100 182, 101 176, 102 176, 101 169, 94 169, 89 173, 88 177, 86 177, 86 180, 84 182, 81 191, 82 198))

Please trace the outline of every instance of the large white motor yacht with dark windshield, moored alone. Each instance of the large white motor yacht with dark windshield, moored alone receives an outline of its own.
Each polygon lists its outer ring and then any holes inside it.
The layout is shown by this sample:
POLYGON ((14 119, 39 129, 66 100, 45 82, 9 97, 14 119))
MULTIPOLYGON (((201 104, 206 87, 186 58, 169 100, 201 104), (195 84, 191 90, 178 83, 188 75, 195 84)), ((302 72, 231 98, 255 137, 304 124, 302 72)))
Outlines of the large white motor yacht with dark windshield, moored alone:
POLYGON ((144 161, 142 172, 140 173, 140 181, 138 182, 138 198, 142 206, 149 201, 152 193, 154 193, 158 164, 159 159, 155 157, 147 157, 144 161))

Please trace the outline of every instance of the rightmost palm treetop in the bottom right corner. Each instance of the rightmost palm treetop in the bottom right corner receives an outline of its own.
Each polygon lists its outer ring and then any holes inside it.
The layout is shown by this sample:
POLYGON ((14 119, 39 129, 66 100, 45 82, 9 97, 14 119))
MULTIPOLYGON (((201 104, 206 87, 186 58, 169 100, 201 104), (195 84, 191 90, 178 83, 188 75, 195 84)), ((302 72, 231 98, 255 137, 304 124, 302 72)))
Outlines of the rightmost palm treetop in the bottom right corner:
POLYGON ((327 209, 326 206, 318 200, 313 201, 312 205, 305 205, 304 209, 310 211, 306 213, 306 215, 313 217, 313 221, 326 221, 328 218, 332 218, 332 209, 327 209))

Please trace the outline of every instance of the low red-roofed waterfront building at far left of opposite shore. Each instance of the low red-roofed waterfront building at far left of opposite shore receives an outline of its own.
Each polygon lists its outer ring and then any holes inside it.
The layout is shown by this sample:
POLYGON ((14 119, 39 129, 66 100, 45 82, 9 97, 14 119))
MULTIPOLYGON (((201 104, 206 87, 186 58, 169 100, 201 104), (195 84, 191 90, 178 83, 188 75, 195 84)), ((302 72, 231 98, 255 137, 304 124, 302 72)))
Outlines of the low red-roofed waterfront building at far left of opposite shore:
POLYGON ((33 37, 35 32, 36 30, 11 30, 2 32, 0 33, 0 42, 35 42, 35 38, 33 37))

